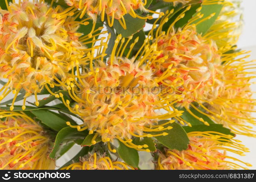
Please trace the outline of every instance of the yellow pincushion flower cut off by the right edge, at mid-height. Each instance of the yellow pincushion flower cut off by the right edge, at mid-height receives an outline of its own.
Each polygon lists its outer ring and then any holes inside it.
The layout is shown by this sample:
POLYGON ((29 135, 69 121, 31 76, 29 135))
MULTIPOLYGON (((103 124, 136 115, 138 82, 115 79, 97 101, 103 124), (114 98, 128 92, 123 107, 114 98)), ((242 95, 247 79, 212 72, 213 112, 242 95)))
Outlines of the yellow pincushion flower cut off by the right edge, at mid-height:
POLYGON ((253 65, 253 62, 243 60, 237 63, 233 63, 233 60, 224 62, 215 75, 215 80, 221 82, 215 83, 213 87, 216 90, 209 92, 205 104, 200 106, 206 110, 206 115, 214 117, 217 123, 229 127, 234 133, 256 137, 256 131, 250 126, 256 125, 255 118, 251 116, 256 106, 250 88, 254 76, 248 75, 254 72, 247 71, 253 69, 253 65))

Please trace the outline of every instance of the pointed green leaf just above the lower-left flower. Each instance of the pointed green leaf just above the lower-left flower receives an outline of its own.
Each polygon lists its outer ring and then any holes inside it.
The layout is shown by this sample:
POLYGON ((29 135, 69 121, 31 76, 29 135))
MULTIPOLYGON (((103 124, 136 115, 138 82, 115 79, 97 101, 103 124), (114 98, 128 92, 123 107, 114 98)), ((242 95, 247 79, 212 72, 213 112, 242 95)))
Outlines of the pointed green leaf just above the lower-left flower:
MULTIPOLYGON (((33 110, 31 112, 37 119, 41 120, 42 123, 55 131, 60 131, 62 128, 67 127, 67 120, 55 112, 49 110, 33 110)), ((76 125, 72 120, 69 120, 69 122, 76 125)))

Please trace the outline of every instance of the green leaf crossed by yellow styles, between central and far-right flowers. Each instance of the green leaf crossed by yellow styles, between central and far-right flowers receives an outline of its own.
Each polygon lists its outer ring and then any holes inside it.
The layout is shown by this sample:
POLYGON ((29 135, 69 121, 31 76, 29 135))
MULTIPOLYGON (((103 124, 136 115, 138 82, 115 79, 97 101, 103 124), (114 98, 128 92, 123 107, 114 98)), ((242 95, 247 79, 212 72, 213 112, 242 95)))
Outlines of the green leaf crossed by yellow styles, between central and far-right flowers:
MULTIPOLYGON (((192 103, 193 104, 193 103, 192 103)), ((182 116, 180 116, 182 119, 184 119, 185 121, 189 122, 192 126, 193 125, 197 125, 197 124, 203 124, 203 122, 201 122, 200 120, 196 119, 194 116, 192 116, 184 107, 180 108, 177 107, 177 109, 179 111, 184 111, 182 113, 182 116)), ((203 108, 199 107, 199 110, 203 111, 203 108)), ((208 122, 209 124, 214 124, 214 122, 206 115, 201 114, 200 112, 198 112, 197 110, 195 110, 193 107, 190 107, 189 110, 195 114, 196 116, 198 116, 199 118, 202 118, 204 121, 208 122)))

